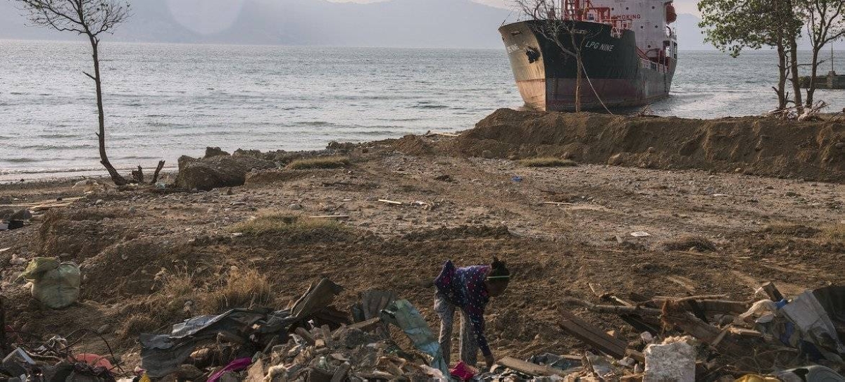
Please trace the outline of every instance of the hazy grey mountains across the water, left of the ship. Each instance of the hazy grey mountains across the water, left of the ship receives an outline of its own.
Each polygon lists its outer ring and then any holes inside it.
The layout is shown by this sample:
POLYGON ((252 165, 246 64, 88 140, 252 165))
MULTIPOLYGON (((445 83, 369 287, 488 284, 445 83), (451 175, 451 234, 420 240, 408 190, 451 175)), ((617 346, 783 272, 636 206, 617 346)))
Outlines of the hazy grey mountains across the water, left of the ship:
MULTIPOLYGON (((221 0, 218 0, 219 3, 221 0)), ((229 4, 237 3, 230 1, 229 4)), ((184 4, 185 2, 181 2, 184 4)), ((215 2, 211 2, 215 3, 215 2)), ((228 24, 213 6, 179 9, 173 0, 134 0, 133 17, 115 41, 266 45, 501 47, 496 31, 509 11, 469 0, 243 0, 228 24), (221 28, 222 25, 222 28, 221 28), (218 29, 218 30, 215 30, 218 29)), ((68 33, 26 26, 13 3, 0 0, 0 39, 73 39, 68 33)))

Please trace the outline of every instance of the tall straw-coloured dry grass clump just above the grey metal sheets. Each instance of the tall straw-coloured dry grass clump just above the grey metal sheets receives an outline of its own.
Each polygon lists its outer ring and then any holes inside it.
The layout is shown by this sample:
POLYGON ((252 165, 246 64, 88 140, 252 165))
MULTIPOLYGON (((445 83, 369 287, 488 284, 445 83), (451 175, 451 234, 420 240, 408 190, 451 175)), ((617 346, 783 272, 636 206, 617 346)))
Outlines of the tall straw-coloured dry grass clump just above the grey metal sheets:
POLYGON ((199 298, 202 314, 221 314, 231 308, 270 307, 273 283, 258 270, 232 269, 221 287, 199 298))

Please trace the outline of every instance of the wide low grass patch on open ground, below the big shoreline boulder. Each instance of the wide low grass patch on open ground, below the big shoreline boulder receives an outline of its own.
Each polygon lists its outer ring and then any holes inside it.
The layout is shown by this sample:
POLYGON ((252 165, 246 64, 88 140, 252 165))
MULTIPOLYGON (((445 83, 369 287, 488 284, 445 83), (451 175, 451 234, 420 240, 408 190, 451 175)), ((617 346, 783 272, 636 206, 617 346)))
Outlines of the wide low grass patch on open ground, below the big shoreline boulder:
POLYGON ((229 229, 231 232, 241 232, 248 236, 268 234, 302 236, 315 233, 342 233, 348 230, 348 227, 337 221, 280 213, 265 213, 254 219, 237 223, 229 229))

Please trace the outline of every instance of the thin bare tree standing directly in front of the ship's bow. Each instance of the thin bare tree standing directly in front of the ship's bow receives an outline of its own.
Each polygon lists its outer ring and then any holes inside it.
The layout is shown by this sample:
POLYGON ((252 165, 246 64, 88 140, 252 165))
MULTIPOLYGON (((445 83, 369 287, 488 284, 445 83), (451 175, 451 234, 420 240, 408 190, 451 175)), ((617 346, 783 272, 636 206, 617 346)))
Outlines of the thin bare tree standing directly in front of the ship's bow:
MULTIPOLYGON (((515 0, 522 16, 536 21, 532 30, 552 41, 565 56, 575 58, 575 112, 581 112, 581 84, 584 78, 582 49, 587 30, 577 28, 575 16, 586 9, 560 9, 555 0, 515 0)), ((586 2, 585 2, 586 5, 586 2)))

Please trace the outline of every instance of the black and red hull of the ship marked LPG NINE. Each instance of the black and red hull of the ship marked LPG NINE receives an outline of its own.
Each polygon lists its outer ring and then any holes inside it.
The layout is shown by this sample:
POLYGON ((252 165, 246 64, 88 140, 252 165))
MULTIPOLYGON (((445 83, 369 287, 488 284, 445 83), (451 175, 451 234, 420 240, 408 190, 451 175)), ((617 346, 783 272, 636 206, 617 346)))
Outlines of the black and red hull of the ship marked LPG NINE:
MULTIPOLYGON (((516 84, 526 106, 537 110, 575 110, 577 62, 553 41, 537 32, 542 20, 504 25, 504 40, 516 84)), ((669 94, 675 59, 662 63, 642 57, 635 34, 624 30, 614 36, 609 25, 569 21, 576 30, 586 30, 581 61, 586 77, 581 79, 581 108, 601 109, 642 106, 669 94), (601 100, 601 101, 599 101, 601 100)), ((580 39, 581 36, 576 36, 580 39)), ((558 39, 575 52, 569 35, 558 39)), ((578 41, 578 40, 576 40, 578 41)))

